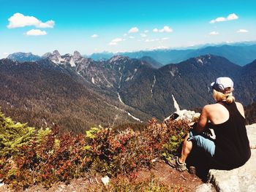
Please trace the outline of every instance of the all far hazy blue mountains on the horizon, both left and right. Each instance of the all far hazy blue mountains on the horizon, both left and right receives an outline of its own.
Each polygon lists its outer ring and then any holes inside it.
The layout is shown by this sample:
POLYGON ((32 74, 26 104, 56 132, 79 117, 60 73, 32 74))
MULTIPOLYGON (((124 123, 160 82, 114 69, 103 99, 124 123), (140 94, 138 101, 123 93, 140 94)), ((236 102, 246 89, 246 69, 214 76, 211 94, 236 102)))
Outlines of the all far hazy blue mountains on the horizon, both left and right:
MULTIPOLYGON (((50 53, 45 53, 40 57, 32 53, 12 53, 8 55, 15 61, 39 61, 45 58, 50 53)), ((236 43, 233 45, 204 45, 197 48, 183 48, 183 49, 164 49, 164 50, 141 50, 135 52, 120 52, 120 53, 93 53, 91 55, 84 55, 86 58, 91 58, 94 61, 107 61, 114 55, 124 55, 129 58, 138 58, 147 61, 155 68, 159 68, 166 64, 178 64, 181 61, 186 61, 189 58, 195 58, 200 55, 219 55, 227 58, 229 61, 240 66, 251 63, 256 59, 256 43, 236 43)), ((66 54, 69 55, 69 54, 66 54)))

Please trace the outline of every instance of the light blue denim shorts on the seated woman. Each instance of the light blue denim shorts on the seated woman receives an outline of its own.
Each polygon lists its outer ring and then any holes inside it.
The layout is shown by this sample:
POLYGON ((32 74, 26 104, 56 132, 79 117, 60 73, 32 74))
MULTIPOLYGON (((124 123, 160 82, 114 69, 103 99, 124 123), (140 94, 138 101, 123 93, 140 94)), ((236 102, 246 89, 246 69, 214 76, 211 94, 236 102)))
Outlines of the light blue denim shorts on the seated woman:
POLYGON ((205 134, 197 134, 193 129, 189 130, 189 139, 194 141, 197 147, 202 148, 212 157, 215 153, 215 143, 212 141, 211 137, 206 136, 205 134))

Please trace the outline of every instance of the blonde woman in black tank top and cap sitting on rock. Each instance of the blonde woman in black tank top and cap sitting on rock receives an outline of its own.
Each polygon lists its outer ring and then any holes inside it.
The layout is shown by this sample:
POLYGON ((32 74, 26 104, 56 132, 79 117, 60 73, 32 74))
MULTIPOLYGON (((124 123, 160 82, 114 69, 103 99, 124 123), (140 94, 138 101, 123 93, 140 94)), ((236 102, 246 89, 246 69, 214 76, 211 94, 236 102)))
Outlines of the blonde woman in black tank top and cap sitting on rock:
POLYGON ((217 103, 203 107, 198 123, 184 139, 181 156, 168 162, 179 171, 187 169, 185 161, 194 147, 199 147, 208 154, 211 160, 209 168, 234 169, 244 165, 250 158, 244 108, 242 104, 235 102, 232 95, 233 81, 229 77, 219 77, 211 83, 211 88, 217 103), (209 125, 214 129, 216 139, 203 133, 209 125))

